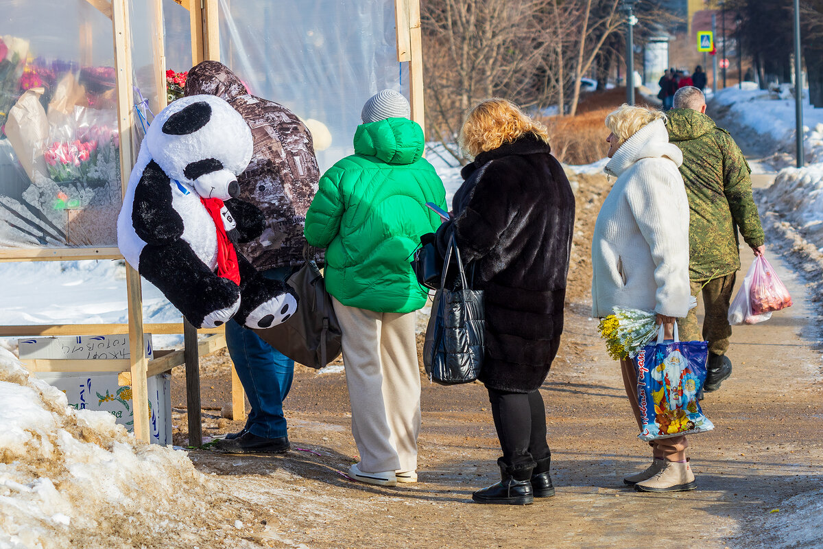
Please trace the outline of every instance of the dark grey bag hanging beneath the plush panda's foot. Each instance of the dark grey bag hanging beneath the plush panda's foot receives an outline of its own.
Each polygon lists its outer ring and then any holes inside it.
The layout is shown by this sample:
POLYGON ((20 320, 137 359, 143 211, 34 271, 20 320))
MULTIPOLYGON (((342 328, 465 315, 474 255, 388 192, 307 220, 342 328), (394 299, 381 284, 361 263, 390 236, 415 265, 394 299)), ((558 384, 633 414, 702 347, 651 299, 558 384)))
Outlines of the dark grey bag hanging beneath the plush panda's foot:
POLYGON ((254 333, 292 361, 320 369, 340 356, 342 331, 309 248, 304 257, 305 263, 286 281, 297 294, 297 312, 284 323, 254 333))

